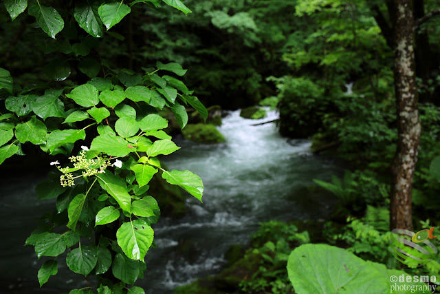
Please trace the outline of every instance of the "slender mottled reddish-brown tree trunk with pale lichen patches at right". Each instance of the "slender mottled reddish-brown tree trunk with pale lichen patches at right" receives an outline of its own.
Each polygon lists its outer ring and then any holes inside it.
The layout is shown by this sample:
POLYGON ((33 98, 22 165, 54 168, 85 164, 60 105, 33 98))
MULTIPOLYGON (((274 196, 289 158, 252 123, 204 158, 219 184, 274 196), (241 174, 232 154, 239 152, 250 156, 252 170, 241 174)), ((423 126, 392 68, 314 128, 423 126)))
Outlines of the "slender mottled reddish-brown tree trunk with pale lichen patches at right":
POLYGON ((421 129, 415 85, 412 0, 393 0, 393 10, 398 140, 392 167, 390 227, 412 231, 412 176, 417 162, 421 129))

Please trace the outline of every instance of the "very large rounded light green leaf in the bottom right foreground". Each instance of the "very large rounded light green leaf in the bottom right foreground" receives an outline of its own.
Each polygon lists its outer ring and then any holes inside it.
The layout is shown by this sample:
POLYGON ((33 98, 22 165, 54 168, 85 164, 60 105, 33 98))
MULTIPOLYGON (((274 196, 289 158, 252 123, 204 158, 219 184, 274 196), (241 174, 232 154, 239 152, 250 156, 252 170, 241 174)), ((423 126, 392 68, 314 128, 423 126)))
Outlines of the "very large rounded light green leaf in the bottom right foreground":
POLYGON ((289 255, 287 273, 298 294, 389 293, 390 273, 396 278, 405 274, 387 271, 384 264, 366 262, 345 249, 327 244, 297 247, 289 255))

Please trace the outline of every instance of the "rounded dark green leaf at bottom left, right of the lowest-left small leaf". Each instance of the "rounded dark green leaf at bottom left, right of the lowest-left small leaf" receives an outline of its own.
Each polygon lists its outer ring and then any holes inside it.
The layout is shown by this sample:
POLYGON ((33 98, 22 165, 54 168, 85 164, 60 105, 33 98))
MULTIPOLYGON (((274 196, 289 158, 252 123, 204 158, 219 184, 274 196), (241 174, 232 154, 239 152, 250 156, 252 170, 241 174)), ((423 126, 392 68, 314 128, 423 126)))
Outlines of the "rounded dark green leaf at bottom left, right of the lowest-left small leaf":
POLYGON ((67 266, 74 273, 87 276, 98 262, 96 253, 96 246, 80 246, 67 253, 67 266))

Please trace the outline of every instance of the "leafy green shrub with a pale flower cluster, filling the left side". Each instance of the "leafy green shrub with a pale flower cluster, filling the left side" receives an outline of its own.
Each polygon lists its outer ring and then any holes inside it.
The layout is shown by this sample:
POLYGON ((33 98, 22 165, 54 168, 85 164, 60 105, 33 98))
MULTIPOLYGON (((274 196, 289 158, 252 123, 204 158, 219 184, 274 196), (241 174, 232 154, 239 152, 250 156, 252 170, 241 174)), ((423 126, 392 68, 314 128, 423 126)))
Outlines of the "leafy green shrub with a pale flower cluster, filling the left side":
POLYGON ((87 284, 98 277, 96 286, 71 293, 144 293, 128 285, 144 275, 151 224, 160 214, 148 182, 160 175, 198 200, 203 193, 199 176, 168 171, 159 162, 179 147, 157 112, 168 107, 181 128, 188 122, 186 106, 205 120, 208 113, 179 80, 186 73, 179 64, 157 61, 142 67, 143 74, 112 68, 99 54, 105 53, 100 43, 120 38, 111 28, 136 6, 167 15, 173 8, 191 11, 179 0, 6 0, 4 6, 12 21, 35 21, 30 35, 43 38, 45 58, 53 60, 39 85, 14 83, 0 68, 0 164, 23 155, 23 145, 57 156, 47 162, 49 179, 36 187, 40 200, 56 198, 56 211, 26 240, 38 258, 52 257, 38 272, 40 286, 56 275, 67 251, 70 270, 87 284))

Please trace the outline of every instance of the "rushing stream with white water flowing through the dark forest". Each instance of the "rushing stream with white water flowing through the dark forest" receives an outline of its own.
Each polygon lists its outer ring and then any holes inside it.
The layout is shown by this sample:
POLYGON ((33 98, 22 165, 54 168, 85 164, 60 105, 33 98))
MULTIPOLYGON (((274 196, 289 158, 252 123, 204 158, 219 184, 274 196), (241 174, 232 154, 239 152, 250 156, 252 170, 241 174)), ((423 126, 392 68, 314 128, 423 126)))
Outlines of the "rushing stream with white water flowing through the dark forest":
MULTIPOLYGON (((311 154, 309 140, 283 138, 274 123, 255 125, 277 117, 268 112, 267 118, 248 120, 239 110, 230 112, 218 128, 226 138, 219 145, 175 138, 181 149, 162 160, 168 169, 188 169, 201 177, 203 204, 188 198, 190 212, 184 218, 162 217, 153 226, 157 248, 148 251, 145 278, 136 282, 146 293, 171 293, 176 286, 219 273, 228 247, 248 243, 259 222, 329 216, 334 198, 295 192, 314 185, 313 178, 329 180, 340 168, 311 154)), ((67 269, 62 256, 58 274, 39 288, 36 273, 42 262, 33 246, 23 244, 36 217, 54 208, 54 201, 36 200, 34 188, 40 180, 34 173, 27 178, 10 175, 1 182, 1 293, 60 293, 87 286, 67 269)))

